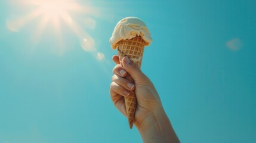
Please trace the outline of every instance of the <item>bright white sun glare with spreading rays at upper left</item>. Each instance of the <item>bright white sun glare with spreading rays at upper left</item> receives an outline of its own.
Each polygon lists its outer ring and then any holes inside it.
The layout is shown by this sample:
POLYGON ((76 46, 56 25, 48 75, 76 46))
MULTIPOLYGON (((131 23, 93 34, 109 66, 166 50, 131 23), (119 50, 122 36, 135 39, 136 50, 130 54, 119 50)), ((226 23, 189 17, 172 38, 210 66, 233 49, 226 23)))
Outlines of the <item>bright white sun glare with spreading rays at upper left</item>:
MULTIPOLYGON (((94 38, 92 38, 84 30, 84 27, 88 29, 94 29, 95 20, 92 17, 99 16, 99 9, 92 7, 89 4, 81 5, 75 0, 10 0, 11 3, 17 5, 17 8, 29 8, 32 9, 30 13, 24 15, 18 15, 18 18, 12 20, 7 19, 6 24, 8 29, 13 32, 18 32, 26 24, 34 19, 38 19, 39 23, 35 25, 35 32, 33 33, 33 41, 38 42, 41 39, 42 34, 45 32, 45 28, 50 25, 54 27, 54 33, 59 45, 63 46, 61 25, 69 27, 69 29, 76 35, 81 42, 81 46, 85 51, 95 53, 95 57, 100 52, 95 48, 94 38), (80 17, 80 18, 77 18, 80 17), (81 18, 82 17, 82 18, 81 18), (82 21, 82 22, 81 22, 82 21), (84 22, 85 21, 85 22, 84 22), (81 25, 84 24, 84 25, 81 25)), ((14 9, 16 7, 14 6, 14 9)), ((104 57, 101 53, 101 57, 104 57)), ((103 58, 100 58, 102 60, 103 58)))

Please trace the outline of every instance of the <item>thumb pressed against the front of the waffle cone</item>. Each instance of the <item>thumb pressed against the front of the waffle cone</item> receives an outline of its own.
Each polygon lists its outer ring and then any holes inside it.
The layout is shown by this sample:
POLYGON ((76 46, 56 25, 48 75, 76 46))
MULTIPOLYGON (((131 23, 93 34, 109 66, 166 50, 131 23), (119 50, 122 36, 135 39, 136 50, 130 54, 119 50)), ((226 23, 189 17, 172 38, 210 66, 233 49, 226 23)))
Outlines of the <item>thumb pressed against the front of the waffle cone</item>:
POLYGON ((124 69, 131 75, 134 82, 145 82, 147 76, 140 70, 138 64, 133 63, 128 57, 122 59, 124 69))

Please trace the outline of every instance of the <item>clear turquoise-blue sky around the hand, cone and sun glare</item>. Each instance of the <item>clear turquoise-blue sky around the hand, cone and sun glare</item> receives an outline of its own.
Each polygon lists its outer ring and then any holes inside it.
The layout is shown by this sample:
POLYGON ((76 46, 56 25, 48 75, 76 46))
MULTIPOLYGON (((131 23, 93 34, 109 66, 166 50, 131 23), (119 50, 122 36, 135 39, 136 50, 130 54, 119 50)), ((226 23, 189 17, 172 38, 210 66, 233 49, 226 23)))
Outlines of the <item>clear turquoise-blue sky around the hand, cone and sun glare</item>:
POLYGON ((88 3, 100 13, 72 19, 103 60, 84 51, 64 21, 62 49, 51 21, 39 41, 33 39, 41 17, 11 31, 8 19, 32 11, 0 1, 0 143, 142 142, 109 95, 117 53, 109 38, 128 16, 143 19, 152 33, 142 70, 181 142, 256 141, 254 0, 88 3), (81 22, 85 17, 95 20, 94 29, 81 22))

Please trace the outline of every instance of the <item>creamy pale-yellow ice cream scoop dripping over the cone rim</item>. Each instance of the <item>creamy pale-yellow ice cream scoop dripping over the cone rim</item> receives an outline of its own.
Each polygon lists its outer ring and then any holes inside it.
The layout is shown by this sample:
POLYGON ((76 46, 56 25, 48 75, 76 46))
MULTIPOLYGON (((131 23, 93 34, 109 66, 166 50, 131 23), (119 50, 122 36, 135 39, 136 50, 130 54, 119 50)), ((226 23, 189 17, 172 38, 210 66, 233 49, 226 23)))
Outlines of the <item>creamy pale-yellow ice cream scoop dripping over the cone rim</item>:
POLYGON ((137 17, 126 17, 116 24, 109 42, 113 49, 116 49, 116 43, 125 39, 132 39, 140 36, 145 41, 145 46, 152 42, 151 34, 146 24, 137 17))

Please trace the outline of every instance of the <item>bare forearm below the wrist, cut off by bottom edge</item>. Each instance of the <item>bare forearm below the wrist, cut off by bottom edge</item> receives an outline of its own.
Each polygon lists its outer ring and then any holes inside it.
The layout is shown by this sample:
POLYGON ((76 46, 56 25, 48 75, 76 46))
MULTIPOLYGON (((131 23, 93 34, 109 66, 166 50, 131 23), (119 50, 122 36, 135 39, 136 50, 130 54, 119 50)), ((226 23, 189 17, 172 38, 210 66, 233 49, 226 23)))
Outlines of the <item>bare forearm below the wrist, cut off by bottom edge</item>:
POLYGON ((137 127, 143 142, 180 142, 165 111, 152 115, 137 127))

